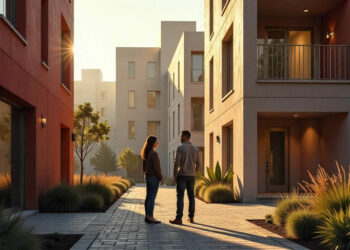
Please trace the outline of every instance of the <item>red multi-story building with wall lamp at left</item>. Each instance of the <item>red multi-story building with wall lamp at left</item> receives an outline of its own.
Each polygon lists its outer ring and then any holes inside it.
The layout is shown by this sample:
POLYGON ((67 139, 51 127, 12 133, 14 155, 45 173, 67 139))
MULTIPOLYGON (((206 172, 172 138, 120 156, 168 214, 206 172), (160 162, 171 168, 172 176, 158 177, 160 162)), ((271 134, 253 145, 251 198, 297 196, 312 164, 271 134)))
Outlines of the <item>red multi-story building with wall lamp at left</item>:
POLYGON ((73 2, 0 0, 0 178, 11 207, 73 179, 73 2))

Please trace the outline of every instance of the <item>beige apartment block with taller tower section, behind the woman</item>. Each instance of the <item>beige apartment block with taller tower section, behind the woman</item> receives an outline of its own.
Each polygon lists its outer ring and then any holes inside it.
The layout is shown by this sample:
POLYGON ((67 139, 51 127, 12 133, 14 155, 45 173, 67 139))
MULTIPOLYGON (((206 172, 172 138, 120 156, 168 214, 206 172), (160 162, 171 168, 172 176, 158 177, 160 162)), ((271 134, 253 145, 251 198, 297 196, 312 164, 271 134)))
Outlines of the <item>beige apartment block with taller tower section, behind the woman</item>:
POLYGON ((196 23, 162 22, 160 47, 116 49, 117 150, 130 147, 139 154, 147 136, 156 135, 163 173, 168 173, 168 68, 186 31, 196 31, 196 23))

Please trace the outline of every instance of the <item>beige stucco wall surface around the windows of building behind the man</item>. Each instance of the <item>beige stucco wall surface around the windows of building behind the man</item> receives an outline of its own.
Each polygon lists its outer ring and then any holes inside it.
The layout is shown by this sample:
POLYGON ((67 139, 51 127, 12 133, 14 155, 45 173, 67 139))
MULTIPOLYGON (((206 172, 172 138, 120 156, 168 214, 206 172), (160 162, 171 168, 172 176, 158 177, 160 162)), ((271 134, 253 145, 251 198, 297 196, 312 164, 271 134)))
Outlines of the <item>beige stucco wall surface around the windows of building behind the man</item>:
MULTIPOLYGON (((204 83, 192 83, 192 52, 204 51, 203 32, 184 32, 175 50, 168 69, 168 86, 170 82, 170 92, 168 90, 168 121, 170 118, 170 128, 168 127, 168 165, 169 175, 173 171, 173 154, 180 145, 178 131, 191 131, 192 114, 191 98, 204 97, 204 83), (180 62, 180 89, 178 89, 178 63, 180 62), (175 75, 175 81, 173 76, 175 75), (173 98, 173 91, 175 95, 173 98), (178 105, 180 105, 180 128, 178 129, 178 105), (173 127, 173 112, 175 112, 175 128, 173 127), (175 129, 175 137, 173 130, 175 129), (170 132, 170 134, 169 134, 170 132), (169 140, 170 139, 170 140, 169 140), (169 157, 170 155, 170 157, 169 157)), ((168 122, 169 123, 169 122, 168 122)), ((191 131, 191 142, 197 147, 204 147, 204 132, 191 131)))

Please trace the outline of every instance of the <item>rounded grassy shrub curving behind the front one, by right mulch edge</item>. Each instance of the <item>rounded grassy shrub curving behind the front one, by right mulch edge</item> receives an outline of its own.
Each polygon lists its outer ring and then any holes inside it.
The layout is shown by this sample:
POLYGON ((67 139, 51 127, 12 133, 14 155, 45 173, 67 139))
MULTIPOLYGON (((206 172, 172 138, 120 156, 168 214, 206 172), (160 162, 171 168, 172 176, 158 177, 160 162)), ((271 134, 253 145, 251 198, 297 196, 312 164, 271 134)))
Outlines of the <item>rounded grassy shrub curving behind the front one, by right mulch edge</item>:
POLYGON ((278 226, 284 226, 287 216, 291 212, 309 206, 310 202, 306 198, 290 197, 283 199, 277 204, 273 215, 273 222, 278 226))

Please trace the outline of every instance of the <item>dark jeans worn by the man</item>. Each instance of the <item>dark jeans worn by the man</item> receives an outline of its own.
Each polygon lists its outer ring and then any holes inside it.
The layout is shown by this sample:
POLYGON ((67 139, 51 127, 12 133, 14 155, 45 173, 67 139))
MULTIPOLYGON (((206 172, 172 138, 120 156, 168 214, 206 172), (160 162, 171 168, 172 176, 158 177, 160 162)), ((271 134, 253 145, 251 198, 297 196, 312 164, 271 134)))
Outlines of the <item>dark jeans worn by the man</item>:
POLYGON ((177 210, 176 219, 182 219, 184 210, 184 194, 187 190, 188 200, 190 202, 188 207, 188 217, 194 217, 195 199, 194 199, 194 176, 177 176, 176 178, 176 193, 177 193, 177 210))

